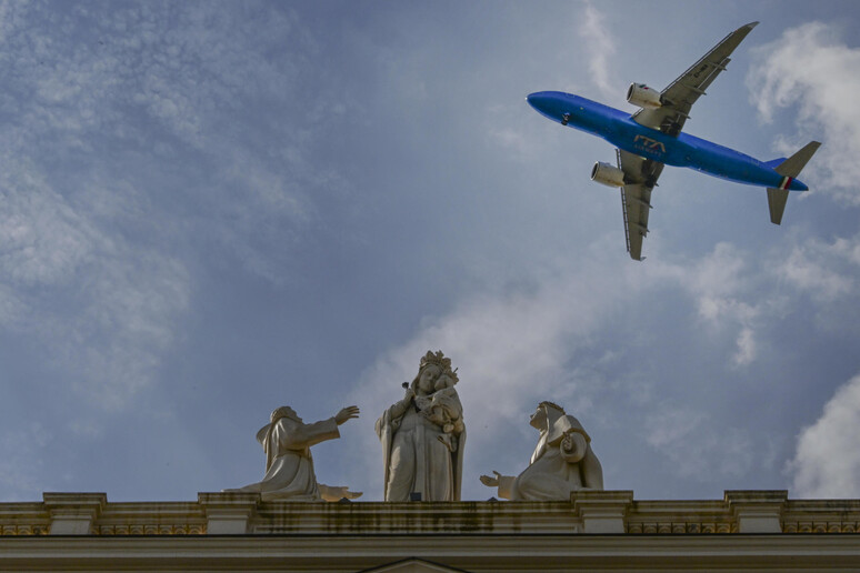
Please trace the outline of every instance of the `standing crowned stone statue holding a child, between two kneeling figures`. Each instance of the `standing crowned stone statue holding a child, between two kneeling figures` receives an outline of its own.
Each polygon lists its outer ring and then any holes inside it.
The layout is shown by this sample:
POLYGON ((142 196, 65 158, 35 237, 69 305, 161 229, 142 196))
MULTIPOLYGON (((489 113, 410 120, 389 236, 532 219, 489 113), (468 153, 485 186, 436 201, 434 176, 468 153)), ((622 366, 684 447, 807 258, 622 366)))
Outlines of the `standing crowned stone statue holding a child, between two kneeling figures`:
POLYGON ((459 501, 466 426, 442 351, 421 359, 403 399, 377 420, 384 458, 386 501, 459 501))

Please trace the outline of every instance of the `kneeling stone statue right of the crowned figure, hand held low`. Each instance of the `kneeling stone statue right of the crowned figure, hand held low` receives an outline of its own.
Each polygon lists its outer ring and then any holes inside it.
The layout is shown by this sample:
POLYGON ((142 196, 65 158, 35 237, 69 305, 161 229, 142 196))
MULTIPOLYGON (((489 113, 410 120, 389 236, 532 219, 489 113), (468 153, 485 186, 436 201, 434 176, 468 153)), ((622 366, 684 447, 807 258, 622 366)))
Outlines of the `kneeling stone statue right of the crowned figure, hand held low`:
POLYGON ((603 469, 591 450, 589 438, 579 420, 567 415, 552 402, 541 402, 530 424, 540 431, 531 463, 518 476, 481 475, 481 483, 499 487, 507 500, 569 500, 577 490, 602 490, 603 469))

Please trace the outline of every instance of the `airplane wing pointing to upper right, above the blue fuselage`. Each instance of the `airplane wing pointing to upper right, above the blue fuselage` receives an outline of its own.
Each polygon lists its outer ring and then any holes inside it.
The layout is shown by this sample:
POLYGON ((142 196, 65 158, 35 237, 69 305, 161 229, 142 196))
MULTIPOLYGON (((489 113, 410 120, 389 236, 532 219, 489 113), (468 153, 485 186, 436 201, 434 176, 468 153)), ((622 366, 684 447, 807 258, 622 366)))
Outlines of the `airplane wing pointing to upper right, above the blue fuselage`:
POLYGON ((700 96, 704 96, 708 86, 726 69, 729 56, 759 22, 741 26, 706 53, 701 60, 683 72, 680 78, 660 92, 662 107, 641 109, 633 114, 633 121, 647 128, 657 129, 667 135, 678 137, 690 109, 700 96))

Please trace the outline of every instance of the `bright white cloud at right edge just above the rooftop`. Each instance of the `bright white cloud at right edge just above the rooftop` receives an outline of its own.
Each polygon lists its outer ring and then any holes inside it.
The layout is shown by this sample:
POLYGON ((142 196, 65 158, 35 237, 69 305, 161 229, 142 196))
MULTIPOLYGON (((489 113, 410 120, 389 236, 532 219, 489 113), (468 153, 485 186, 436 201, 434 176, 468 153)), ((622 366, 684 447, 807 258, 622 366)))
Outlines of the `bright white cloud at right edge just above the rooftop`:
POLYGON ((860 375, 839 388, 821 418, 798 435, 789 464, 796 497, 860 496, 860 375))

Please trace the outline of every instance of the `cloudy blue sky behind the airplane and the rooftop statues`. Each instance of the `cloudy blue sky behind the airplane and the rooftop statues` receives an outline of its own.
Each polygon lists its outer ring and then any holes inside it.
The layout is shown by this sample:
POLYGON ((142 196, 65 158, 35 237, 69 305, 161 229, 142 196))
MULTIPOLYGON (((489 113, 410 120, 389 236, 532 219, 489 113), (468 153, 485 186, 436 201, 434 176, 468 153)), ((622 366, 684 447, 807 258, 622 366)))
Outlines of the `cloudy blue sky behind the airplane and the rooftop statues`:
POLYGON ((259 481, 257 430, 358 404, 321 482, 381 499, 373 422, 459 368, 463 497, 553 400, 607 489, 860 496, 860 10, 828 2, 0 2, 0 501, 194 500, 259 481), (671 16, 671 17, 669 17, 671 16), (686 129, 763 189, 667 168, 642 263, 602 140, 760 20, 686 129))

